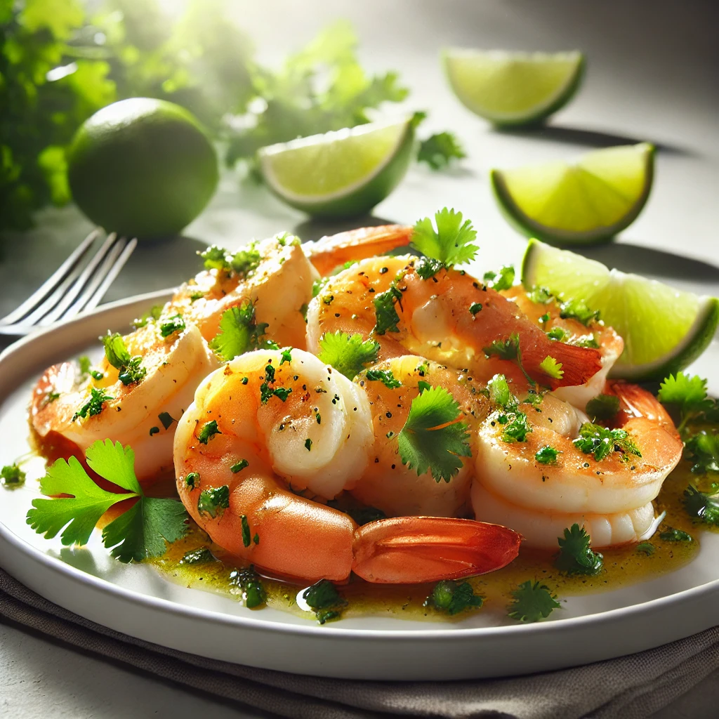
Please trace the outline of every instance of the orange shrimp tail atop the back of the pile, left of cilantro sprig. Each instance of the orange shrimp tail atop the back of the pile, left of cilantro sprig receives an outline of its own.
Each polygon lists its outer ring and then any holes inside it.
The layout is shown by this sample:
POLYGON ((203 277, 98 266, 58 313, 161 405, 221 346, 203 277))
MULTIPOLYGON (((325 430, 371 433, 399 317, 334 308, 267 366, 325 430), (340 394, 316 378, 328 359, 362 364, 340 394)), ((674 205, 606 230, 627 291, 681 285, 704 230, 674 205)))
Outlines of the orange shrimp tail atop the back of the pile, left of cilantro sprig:
POLYGON ((329 275, 344 262, 365 260, 409 244, 412 232, 412 227, 406 225, 360 227, 322 237, 307 247, 307 253, 320 275, 329 275))

